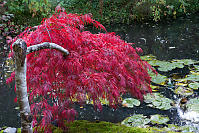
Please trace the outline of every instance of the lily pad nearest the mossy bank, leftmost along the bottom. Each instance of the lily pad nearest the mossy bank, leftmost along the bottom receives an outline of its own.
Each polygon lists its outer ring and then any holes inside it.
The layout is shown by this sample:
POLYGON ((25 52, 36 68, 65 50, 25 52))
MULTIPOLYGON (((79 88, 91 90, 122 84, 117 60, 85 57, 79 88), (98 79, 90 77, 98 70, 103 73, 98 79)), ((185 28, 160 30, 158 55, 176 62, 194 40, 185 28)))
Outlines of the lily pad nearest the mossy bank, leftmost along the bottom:
POLYGON ((138 114, 133 115, 131 117, 127 117, 125 120, 121 122, 121 124, 126 125, 128 127, 145 127, 145 125, 150 123, 150 121, 151 120, 143 114, 138 114))

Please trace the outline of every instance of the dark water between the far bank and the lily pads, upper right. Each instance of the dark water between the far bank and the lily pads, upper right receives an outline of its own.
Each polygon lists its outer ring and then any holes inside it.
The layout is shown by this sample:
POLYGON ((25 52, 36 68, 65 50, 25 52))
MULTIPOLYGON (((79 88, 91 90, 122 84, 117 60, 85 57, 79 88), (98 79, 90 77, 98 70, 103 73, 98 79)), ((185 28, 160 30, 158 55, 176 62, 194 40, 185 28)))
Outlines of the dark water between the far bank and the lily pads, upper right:
POLYGON ((160 24, 116 25, 115 31, 127 42, 143 48, 144 54, 153 54, 159 60, 198 59, 199 16, 197 14, 160 24))

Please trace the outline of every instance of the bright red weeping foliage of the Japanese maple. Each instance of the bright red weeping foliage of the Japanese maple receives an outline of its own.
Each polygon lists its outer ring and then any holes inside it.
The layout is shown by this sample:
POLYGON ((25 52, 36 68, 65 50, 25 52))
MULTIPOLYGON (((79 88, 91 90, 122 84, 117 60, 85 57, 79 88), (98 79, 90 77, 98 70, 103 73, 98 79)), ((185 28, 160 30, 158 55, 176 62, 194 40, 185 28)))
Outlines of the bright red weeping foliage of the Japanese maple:
POLYGON ((17 37, 25 40, 27 46, 53 42, 70 53, 64 57, 59 51, 45 49, 27 55, 33 125, 46 127, 56 121, 63 126, 64 120, 74 120, 77 115, 72 106, 74 99, 80 104, 86 99, 93 100, 94 106, 101 110, 99 98, 106 98, 110 106, 116 107, 126 92, 138 99, 151 92, 147 69, 152 68, 140 59, 136 50, 115 33, 85 31, 87 24, 106 32, 89 14, 56 12, 17 37))

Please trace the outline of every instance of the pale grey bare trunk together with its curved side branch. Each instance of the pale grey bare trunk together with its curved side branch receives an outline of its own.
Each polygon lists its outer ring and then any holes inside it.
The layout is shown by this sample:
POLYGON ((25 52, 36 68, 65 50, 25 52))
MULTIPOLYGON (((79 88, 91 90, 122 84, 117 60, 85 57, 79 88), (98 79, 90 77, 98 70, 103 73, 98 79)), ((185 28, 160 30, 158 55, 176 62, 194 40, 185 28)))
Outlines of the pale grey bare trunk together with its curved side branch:
POLYGON ((13 52, 15 56, 15 83, 16 83, 16 94, 17 102, 20 108, 21 116, 21 131, 22 133, 32 133, 32 114, 30 111, 30 105, 27 94, 27 83, 26 83, 26 55, 41 49, 57 49, 64 55, 68 55, 68 50, 55 44, 44 42, 27 48, 24 40, 18 39, 13 43, 13 52))

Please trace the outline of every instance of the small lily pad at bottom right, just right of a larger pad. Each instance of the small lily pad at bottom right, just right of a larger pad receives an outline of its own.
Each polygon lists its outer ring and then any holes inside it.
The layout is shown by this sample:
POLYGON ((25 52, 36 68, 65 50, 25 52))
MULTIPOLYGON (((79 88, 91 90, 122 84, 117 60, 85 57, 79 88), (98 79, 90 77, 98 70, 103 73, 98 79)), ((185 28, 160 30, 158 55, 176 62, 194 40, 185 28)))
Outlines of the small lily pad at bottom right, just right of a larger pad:
POLYGON ((164 117, 162 115, 151 115, 151 122, 153 124, 165 124, 169 121, 168 117, 164 117))

